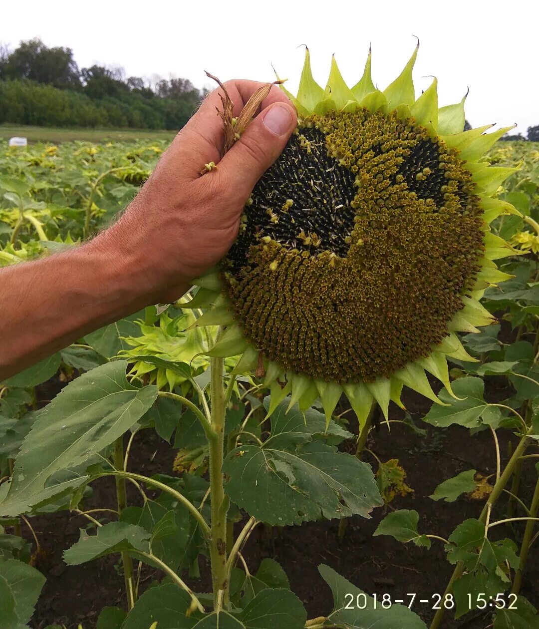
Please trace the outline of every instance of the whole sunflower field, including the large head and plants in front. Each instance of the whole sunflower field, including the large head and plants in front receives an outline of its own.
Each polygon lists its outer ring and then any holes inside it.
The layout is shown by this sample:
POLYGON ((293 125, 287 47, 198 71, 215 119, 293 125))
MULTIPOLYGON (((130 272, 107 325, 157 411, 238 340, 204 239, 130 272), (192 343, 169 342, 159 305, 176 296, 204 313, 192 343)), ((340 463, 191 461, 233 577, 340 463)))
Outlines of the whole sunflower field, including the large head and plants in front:
MULTIPOLYGON (((0 382, 0 629, 539 629, 539 143, 416 52, 307 53, 221 267, 0 382)), ((0 267, 166 146, 0 142, 0 267)))

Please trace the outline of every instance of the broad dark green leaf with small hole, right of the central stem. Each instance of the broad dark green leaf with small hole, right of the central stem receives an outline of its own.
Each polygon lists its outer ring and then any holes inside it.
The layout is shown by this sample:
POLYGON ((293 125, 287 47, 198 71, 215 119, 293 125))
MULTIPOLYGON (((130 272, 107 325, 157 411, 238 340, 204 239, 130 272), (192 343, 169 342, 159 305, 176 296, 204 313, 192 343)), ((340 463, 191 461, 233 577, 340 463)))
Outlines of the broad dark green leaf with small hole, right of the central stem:
POLYGON ((299 524, 350 515, 369 517, 383 504, 370 466, 322 443, 325 416, 285 400, 272 415, 271 437, 262 447, 243 445, 223 464, 226 492, 257 520, 299 524))

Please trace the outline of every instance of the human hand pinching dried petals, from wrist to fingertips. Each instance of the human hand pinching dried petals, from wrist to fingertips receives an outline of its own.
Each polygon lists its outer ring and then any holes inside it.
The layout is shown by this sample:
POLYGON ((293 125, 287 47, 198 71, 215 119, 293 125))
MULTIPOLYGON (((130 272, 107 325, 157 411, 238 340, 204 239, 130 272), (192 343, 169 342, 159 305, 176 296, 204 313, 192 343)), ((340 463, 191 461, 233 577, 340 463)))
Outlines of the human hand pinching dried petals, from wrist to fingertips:
MULTIPOLYGON (((238 116, 263 83, 228 81, 238 116)), ((225 143, 219 92, 201 107, 163 153, 152 175, 119 220, 94 238, 132 259, 146 281, 148 304, 181 297, 228 251, 238 233, 243 206, 265 170, 279 157, 296 126, 296 111, 272 86, 261 112, 222 157, 225 143), (201 176, 204 164, 217 169, 201 176), (135 258, 133 259, 133 255, 135 258)))

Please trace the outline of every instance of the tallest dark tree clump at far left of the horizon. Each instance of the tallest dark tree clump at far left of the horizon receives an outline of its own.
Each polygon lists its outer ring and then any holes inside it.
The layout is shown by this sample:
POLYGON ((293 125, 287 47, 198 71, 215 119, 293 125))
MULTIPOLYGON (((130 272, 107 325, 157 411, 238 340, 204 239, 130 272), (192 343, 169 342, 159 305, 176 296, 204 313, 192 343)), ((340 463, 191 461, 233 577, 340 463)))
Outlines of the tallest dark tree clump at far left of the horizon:
POLYGON ((75 88, 81 84, 79 67, 71 48, 48 48, 40 39, 21 42, 18 48, 3 55, 1 78, 30 79, 55 87, 75 88))

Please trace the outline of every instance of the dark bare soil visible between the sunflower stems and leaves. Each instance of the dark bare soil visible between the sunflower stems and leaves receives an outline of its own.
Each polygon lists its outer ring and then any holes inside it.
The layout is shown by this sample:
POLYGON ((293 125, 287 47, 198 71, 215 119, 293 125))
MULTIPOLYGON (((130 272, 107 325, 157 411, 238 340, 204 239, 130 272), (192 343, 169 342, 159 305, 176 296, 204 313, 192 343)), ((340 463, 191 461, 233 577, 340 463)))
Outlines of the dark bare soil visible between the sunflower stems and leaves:
MULTIPOLYGON (((502 377, 487 378, 486 398, 489 401, 507 398, 511 394, 511 387, 504 383, 506 380, 502 377)), ((58 382, 48 382, 41 387, 40 397, 51 399, 60 386, 58 382)), ((421 422, 421 417, 430 408, 430 401, 409 391, 403 396, 403 401, 414 421, 421 428, 428 427, 421 422)), ((403 411, 396 406, 392 406, 390 411, 391 418, 403 416, 403 411)), ((503 465, 508 459, 511 433, 502 430, 498 433, 503 465)), ((448 564, 445 557, 443 542, 433 540, 430 550, 426 550, 413 543, 399 543, 387 536, 373 538, 372 533, 388 510, 404 508, 416 509, 420 513, 420 532, 447 538, 460 522, 479 516, 484 503, 469 498, 459 498, 454 503, 435 502, 428 498, 429 494, 440 482, 464 470, 475 469, 485 476, 496 470, 492 435, 487 430, 470 436, 469 431, 454 426, 445 430, 429 429, 428 436, 421 437, 401 423, 391 423, 388 433, 387 425, 382 423, 371 435, 367 448, 382 461, 399 459, 407 473, 406 483, 413 493, 404 498, 397 496, 385 510, 375 509, 370 520, 358 516, 350 518, 342 542, 337 535, 338 520, 304 523, 282 529, 260 525, 243 550, 243 557, 253 573, 265 557, 272 557, 282 565, 290 579, 292 591, 306 606, 308 618, 326 615, 332 609, 331 592, 318 573, 319 564, 330 565, 369 594, 377 593, 381 597, 389 593, 392 599, 408 600, 407 593, 416 593, 417 600, 428 598, 434 602, 433 594, 443 593, 453 571, 453 566, 448 564)), ((353 448, 355 443, 345 442, 341 445, 341 449, 351 452, 353 448)), ((156 433, 141 431, 131 450, 130 469, 148 476, 157 472, 170 474, 174 454, 172 447, 156 433)), ((369 452, 364 453, 364 460, 376 469, 375 459, 369 452)), ((528 504, 535 484, 534 474, 533 465, 525 465, 520 496, 528 504)), ((99 479, 92 487, 93 495, 86 501, 87 509, 115 507, 112 479, 99 479)), ((140 504, 140 495, 136 489, 130 487, 128 497, 130 504, 140 504)), ((494 509, 492 517, 501 518, 503 514, 504 504, 494 509)), ((31 518, 31 524, 45 551, 38 557, 36 567, 47 577, 30 623, 33 629, 43 629, 50 623, 65 625, 67 629, 77 629, 81 623, 84 629, 92 629, 102 608, 125 606, 123 579, 118 574, 118 555, 80 566, 67 566, 62 561, 62 552, 78 540, 79 527, 86 525, 84 518, 64 511, 31 518)), ((241 527, 242 524, 236 526, 241 527)), ((513 531, 507 526, 496 528, 499 538, 514 538, 513 531)), ((523 528, 517 526, 515 529, 517 542, 521 540, 523 528)), ((25 525, 23 535, 32 541, 25 525)), ((206 565, 201 562, 201 574, 207 574, 205 568, 206 565)), ((153 579, 161 576, 160 572, 145 567, 141 591, 153 579)), ((209 590, 207 578, 189 581, 189 584, 195 591, 209 590)), ((528 557, 521 593, 535 606, 539 606, 539 544, 532 548, 528 557)), ((416 603, 413 610, 428 624, 434 614, 430 607, 416 603)), ((484 629, 490 626, 491 618, 488 613, 472 612, 455 621, 447 613, 442 626, 445 629, 484 629)))

